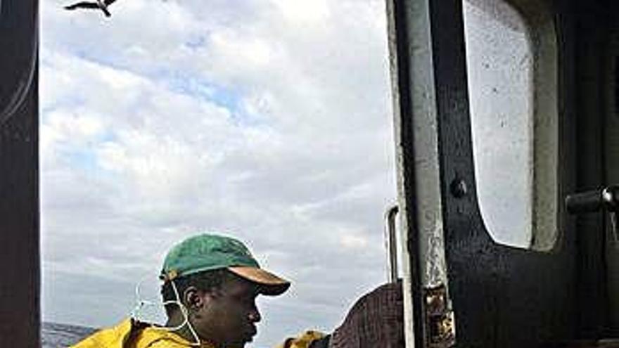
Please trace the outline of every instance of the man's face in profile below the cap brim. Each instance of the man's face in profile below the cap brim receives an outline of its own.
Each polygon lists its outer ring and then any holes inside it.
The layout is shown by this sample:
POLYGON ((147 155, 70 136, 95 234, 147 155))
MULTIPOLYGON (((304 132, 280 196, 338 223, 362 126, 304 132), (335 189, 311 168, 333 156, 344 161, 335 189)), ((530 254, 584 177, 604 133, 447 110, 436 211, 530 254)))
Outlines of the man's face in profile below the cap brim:
POLYGON ((222 287, 202 292, 204 304, 193 326, 200 337, 225 348, 245 346, 257 333, 260 321, 255 299, 258 287, 237 276, 229 276, 222 287))

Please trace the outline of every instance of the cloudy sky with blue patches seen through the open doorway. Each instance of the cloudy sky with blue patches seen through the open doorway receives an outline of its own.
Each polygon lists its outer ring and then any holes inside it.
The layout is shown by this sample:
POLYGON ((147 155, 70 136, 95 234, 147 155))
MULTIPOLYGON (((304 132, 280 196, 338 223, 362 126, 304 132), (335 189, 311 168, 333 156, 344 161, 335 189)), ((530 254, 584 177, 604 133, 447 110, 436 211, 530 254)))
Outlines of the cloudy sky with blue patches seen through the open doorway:
POLYGON ((293 281, 260 299, 255 347, 332 330, 383 283, 383 0, 68 3, 41 2, 44 321, 117 323, 198 231, 293 281))

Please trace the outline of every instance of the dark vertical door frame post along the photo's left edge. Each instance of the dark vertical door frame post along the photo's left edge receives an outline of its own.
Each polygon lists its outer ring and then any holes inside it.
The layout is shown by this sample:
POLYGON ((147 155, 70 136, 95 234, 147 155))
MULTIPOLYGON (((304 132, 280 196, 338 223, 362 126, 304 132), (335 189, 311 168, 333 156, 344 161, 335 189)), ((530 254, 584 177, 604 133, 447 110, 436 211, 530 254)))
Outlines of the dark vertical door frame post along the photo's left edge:
POLYGON ((37 11, 37 0, 2 0, 0 15, 0 264, 2 265, 0 345, 2 347, 40 347, 37 11))

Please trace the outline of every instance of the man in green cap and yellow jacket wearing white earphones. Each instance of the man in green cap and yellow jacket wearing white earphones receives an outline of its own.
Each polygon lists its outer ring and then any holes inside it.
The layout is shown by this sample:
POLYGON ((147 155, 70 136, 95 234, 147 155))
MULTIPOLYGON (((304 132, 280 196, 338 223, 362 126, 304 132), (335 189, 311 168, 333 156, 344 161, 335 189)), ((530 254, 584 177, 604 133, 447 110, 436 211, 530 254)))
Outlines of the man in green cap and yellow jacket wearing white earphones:
MULTIPOLYGON (((165 327, 132 318, 73 348, 242 348, 260 321, 258 295, 281 295, 290 283, 264 269, 243 243, 202 234, 172 247, 160 278, 165 327)), ((308 348, 324 335, 308 331, 281 347, 308 348)))

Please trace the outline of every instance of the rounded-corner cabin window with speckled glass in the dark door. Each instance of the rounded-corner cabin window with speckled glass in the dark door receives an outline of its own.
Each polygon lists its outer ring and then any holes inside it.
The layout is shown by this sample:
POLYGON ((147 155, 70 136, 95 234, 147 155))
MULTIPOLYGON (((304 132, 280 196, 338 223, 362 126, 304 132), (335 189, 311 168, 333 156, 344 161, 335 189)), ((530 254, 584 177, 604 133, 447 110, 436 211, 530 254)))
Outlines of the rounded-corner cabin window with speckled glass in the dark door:
POLYGON ((517 6, 464 1, 477 197, 497 243, 548 249, 556 238, 556 44, 551 17, 517 6))

